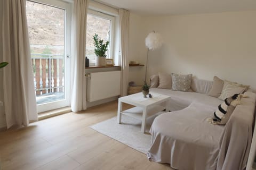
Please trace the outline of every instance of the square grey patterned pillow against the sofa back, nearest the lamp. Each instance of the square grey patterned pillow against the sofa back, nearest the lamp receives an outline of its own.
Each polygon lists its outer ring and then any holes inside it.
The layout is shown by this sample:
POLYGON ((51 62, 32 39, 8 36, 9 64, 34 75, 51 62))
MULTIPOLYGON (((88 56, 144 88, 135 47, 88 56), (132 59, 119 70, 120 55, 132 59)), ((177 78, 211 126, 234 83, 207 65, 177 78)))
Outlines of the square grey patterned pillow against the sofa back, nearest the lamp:
POLYGON ((182 75, 172 73, 172 90, 188 91, 191 87, 192 74, 182 75))

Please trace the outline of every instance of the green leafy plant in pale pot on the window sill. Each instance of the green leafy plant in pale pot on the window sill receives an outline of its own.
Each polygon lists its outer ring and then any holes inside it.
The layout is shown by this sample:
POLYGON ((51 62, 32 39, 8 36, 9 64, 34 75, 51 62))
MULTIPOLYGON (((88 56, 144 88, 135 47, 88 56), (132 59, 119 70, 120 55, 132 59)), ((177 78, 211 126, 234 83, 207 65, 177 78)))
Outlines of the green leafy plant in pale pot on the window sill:
POLYGON ((93 36, 94 40, 94 53, 96 55, 95 57, 95 65, 96 66, 105 66, 106 65, 106 52, 108 50, 108 44, 109 41, 106 42, 106 44, 103 43, 103 39, 99 39, 99 36, 95 33, 93 36))

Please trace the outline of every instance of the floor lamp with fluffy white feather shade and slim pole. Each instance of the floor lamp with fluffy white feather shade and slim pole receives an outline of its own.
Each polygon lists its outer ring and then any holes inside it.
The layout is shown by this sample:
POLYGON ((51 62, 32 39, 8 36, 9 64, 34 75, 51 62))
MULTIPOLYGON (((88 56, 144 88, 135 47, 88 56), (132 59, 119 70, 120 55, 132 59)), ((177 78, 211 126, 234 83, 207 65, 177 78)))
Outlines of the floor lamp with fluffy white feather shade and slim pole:
POLYGON ((147 50, 147 58, 146 58, 146 72, 145 72, 145 82, 147 80, 147 71, 148 71, 148 52, 149 50, 155 50, 160 48, 163 45, 163 38, 159 33, 152 31, 145 39, 147 50))

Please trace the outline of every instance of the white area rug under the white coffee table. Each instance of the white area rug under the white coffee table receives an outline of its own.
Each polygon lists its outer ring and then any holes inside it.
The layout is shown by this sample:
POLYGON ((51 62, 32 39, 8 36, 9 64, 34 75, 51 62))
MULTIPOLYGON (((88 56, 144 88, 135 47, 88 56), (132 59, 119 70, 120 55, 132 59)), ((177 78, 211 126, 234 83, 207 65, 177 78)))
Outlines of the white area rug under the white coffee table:
POLYGON ((117 117, 90 126, 90 128, 107 135, 119 142, 146 154, 151 145, 149 129, 154 118, 161 113, 147 119, 146 133, 141 132, 141 121, 122 115, 122 124, 117 123, 117 117))

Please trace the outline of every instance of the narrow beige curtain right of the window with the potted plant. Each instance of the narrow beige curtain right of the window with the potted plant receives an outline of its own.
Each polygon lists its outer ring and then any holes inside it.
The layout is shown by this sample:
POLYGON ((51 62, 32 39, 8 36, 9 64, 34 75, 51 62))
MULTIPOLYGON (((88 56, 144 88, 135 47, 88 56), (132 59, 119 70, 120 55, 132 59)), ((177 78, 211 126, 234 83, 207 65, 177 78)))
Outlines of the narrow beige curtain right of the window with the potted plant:
POLYGON ((120 52, 121 52, 121 96, 127 95, 128 77, 129 77, 129 61, 128 61, 128 46, 129 46, 129 15, 130 12, 124 9, 119 9, 119 24, 120 24, 120 52))

